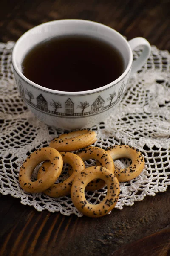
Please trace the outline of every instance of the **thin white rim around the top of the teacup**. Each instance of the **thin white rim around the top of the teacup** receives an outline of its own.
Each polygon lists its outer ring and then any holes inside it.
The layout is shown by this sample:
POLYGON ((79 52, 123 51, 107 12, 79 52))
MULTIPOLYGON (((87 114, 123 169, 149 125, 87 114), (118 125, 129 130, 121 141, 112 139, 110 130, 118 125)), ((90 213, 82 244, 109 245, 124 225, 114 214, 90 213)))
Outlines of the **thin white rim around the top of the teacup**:
POLYGON ((130 45, 128 44, 127 40, 119 32, 117 32, 115 29, 112 29, 111 27, 109 27, 107 25, 104 25, 104 24, 96 22, 96 21, 91 21, 91 20, 60 19, 60 20, 53 20, 53 21, 48 21, 48 22, 45 22, 45 23, 41 23, 41 24, 39 24, 37 26, 34 26, 33 28, 31 28, 28 31, 26 31, 23 35, 21 35, 20 38, 16 41, 16 43, 14 45, 14 48, 12 50, 11 62, 12 62, 14 70, 17 72, 17 74, 20 76, 20 78, 23 79, 23 81, 25 81, 27 84, 30 84, 33 87, 36 87, 37 89, 40 89, 40 90, 44 90, 44 91, 46 91, 48 93, 54 93, 54 94, 58 94, 58 95, 68 95, 69 94, 71 96, 71 95, 83 95, 83 94, 98 93, 100 91, 106 90, 106 89, 108 89, 110 87, 113 87, 114 85, 118 84, 120 81, 122 81, 122 79, 125 78, 125 76, 127 75, 127 73, 129 72, 129 70, 130 70, 130 68, 132 66, 133 53, 132 53, 132 50, 131 50, 130 45), (127 48, 129 50, 129 61, 128 61, 127 67, 126 67, 125 71, 122 73, 122 75, 119 76, 116 80, 114 80, 111 83, 106 84, 106 85, 104 85, 102 87, 99 87, 99 88, 96 88, 96 89, 92 89, 92 90, 76 91, 76 92, 68 92, 68 91, 53 90, 53 89, 50 89, 50 88, 46 88, 46 87, 43 87, 43 86, 41 86, 39 84, 34 83, 33 81, 29 80, 26 76, 24 76, 23 73, 17 67, 17 63, 16 63, 16 60, 15 60, 15 55, 17 54, 16 48, 17 48, 17 45, 20 43, 20 41, 22 41, 23 38, 25 38, 32 30, 34 30, 37 27, 45 26, 48 23, 60 23, 60 22, 66 22, 66 21, 67 22, 68 21, 69 22, 79 21, 81 23, 95 23, 98 26, 102 26, 102 27, 104 27, 104 28, 106 28, 106 29, 108 29, 110 31, 114 31, 114 33, 118 34, 122 38, 122 40, 125 42, 125 44, 127 44, 127 48))

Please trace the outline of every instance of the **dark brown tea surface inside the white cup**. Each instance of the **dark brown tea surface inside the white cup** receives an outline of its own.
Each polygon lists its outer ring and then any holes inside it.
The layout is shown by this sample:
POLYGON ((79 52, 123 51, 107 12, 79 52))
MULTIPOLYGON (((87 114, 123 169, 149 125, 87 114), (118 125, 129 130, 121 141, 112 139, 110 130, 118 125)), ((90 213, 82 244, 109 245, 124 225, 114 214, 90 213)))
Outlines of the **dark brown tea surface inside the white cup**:
POLYGON ((69 35, 37 44, 24 58, 22 71, 43 87, 75 92, 111 83, 123 73, 124 63, 105 41, 69 35))

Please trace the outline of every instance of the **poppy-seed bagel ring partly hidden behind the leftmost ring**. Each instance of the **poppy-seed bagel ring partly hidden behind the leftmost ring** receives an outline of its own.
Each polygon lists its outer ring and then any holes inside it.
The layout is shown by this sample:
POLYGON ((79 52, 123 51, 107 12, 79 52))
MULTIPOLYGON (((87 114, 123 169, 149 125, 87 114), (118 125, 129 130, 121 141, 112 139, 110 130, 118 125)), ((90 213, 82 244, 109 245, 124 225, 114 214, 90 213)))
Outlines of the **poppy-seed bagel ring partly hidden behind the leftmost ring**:
MULTIPOLYGON (((67 180, 64 180, 58 184, 53 184, 50 188, 43 191, 45 195, 49 195, 51 197, 60 197, 60 196, 69 195, 71 192, 71 186, 72 186, 73 180, 76 177, 77 173, 85 169, 84 162, 76 154, 73 154, 70 152, 60 152, 60 154, 62 156, 63 163, 69 163, 71 165, 71 167, 73 168, 73 173, 67 180)), ((43 163, 39 169, 37 177, 38 178, 43 177, 43 175, 45 175, 45 173, 48 172, 49 166, 50 166, 50 162, 46 161, 45 163, 43 163)))

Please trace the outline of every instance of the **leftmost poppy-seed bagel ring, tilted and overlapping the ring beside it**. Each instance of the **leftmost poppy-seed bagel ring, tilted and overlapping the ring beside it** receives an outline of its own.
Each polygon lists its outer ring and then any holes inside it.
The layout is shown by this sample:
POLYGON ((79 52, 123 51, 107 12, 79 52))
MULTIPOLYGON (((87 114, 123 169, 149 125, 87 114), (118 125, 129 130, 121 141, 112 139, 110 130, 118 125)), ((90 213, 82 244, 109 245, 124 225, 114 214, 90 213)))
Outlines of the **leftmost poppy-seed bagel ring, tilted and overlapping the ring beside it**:
POLYGON ((27 157, 19 172, 19 183, 23 190, 30 193, 42 192, 48 189, 59 177, 62 171, 62 156, 54 148, 40 148, 27 157), (50 160, 48 172, 36 181, 31 181, 34 168, 41 162, 50 160))

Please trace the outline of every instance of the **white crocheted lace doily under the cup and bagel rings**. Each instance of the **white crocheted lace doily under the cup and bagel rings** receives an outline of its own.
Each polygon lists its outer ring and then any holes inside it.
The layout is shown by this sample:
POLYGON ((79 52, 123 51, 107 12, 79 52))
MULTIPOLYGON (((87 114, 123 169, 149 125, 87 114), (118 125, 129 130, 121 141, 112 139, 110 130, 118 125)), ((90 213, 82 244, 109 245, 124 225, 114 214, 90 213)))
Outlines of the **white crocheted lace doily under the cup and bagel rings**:
MULTIPOLYGON (((20 98, 11 66, 13 46, 13 42, 0 44, 0 192, 20 198, 22 204, 33 205, 38 211, 75 213, 80 217, 82 214, 70 196, 50 198, 43 193, 28 194, 19 186, 18 172, 28 154, 48 146, 60 131, 37 120, 20 98)), ((140 52, 136 50, 134 58, 138 58, 140 52)), ((117 209, 131 206, 146 195, 165 192, 170 185, 170 54, 152 47, 147 64, 130 79, 117 111, 92 129, 98 135, 96 146, 128 144, 139 148, 145 158, 142 174, 120 184, 117 209)), ((87 163, 92 164, 92 160, 87 163)), ((119 168, 128 164, 129 160, 115 161, 119 168)), ((67 166, 60 180, 66 176, 67 166)), ((106 188, 87 192, 86 198, 91 203, 99 203, 106 192, 106 188)))

